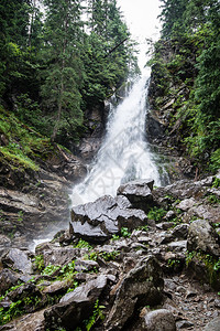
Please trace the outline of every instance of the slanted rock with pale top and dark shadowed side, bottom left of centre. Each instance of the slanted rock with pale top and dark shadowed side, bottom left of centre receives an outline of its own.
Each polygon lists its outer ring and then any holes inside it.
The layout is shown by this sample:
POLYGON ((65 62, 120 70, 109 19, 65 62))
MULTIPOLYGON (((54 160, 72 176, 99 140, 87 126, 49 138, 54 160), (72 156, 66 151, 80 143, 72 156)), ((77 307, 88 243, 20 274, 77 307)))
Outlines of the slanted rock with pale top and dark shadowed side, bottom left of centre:
POLYGON ((66 331, 75 330, 92 314, 94 305, 106 286, 107 277, 101 275, 65 295, 59 303, 45 310, 45 329, 51 331, 59 328, 65 328, 66 331))

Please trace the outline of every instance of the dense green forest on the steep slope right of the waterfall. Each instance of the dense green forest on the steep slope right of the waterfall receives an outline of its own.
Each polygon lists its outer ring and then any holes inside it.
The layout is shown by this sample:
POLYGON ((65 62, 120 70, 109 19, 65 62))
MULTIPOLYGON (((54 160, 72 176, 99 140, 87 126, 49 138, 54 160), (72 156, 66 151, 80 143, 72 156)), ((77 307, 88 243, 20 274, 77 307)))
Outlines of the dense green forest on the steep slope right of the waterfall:
POLYGON ((166 136, 201 170, 220 168, 220 2, 161 0, 162 34, 150 61, 153 106, 166 136), (176 138, 177 137, 177 138, 176 138))

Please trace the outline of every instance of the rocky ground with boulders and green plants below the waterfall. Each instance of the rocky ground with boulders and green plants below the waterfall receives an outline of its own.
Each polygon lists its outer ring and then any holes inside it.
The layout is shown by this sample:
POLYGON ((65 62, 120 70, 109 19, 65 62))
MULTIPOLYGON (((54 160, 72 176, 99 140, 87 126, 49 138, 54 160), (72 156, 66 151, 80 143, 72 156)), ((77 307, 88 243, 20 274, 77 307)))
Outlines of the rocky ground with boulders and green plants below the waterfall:
POLYGON ((219 186, 130 182, 35 254, 2 248, 0 330, 220 330, 219 186))

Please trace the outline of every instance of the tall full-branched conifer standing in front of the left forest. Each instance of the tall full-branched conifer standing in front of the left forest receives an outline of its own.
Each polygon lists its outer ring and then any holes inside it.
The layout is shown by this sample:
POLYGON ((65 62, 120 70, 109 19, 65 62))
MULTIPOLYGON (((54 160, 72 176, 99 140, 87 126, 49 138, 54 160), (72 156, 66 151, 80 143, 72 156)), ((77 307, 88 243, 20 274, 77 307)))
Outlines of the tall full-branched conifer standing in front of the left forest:
POLYGON ((52 140, 61 140, 67 131, 74 131, 82 122, 80 109, 80 1, 45 0, 46 56, 42 97, 52 120, 52 140))

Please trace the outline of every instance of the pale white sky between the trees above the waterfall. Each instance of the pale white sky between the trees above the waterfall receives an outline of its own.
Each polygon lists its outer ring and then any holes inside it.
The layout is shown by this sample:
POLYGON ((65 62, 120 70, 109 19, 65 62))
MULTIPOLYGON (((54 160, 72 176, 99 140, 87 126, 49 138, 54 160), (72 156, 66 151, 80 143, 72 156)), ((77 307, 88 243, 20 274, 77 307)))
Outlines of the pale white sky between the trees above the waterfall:
POLYGON ((156 41, 160 36, 161 24, 157 19, 161 9, 160 0, 117 0, 124 14, 133 39, 140 43, 139 64, 141 67, 146 63, 148 49, 146 39, 156 41))

